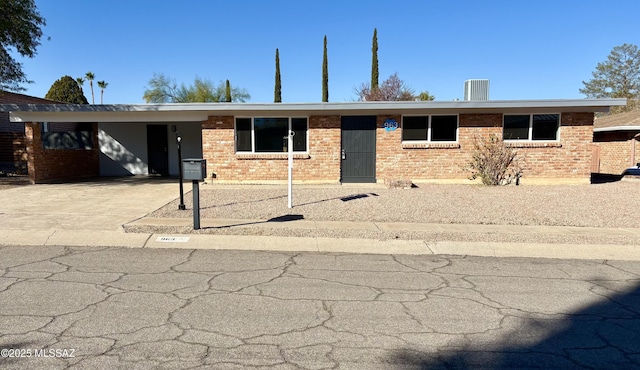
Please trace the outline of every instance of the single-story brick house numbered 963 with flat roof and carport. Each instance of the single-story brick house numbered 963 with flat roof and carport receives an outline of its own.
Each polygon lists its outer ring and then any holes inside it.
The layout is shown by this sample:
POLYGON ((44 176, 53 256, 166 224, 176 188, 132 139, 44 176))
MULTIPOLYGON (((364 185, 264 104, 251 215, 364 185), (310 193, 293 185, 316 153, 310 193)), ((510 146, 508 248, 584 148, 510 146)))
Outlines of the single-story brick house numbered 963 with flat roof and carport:
POLYGON ((492 134, 524 159, 523 183, 588 183, 594 113, 625 104, 576 99, 0 108, 25 124, 34 143, 33 182, 96 173, 177 175, 175 130, 183 157, 206 159, 214 183, 284 183, 283 138, 293 130, 297 183, 469 182, 463 167, 474 138, 492 134), (38 141, 56 122, 82 124, 92 145, 85 140, 81 147, 43 150, 38 141))

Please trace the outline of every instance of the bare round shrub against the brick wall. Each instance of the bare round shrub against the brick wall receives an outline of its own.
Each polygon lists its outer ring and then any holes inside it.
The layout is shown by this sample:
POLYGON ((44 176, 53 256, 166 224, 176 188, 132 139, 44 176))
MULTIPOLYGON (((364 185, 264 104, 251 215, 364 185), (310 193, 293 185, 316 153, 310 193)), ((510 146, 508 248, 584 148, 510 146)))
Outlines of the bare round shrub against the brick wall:
POLYGON ((518 181, 522 176, 522 167, 518 153, 507 147, 498 136, 473 140, 473 156, 466 169, 471 172, 469 179, 480 177, 484 185, 507 185, 518 181))

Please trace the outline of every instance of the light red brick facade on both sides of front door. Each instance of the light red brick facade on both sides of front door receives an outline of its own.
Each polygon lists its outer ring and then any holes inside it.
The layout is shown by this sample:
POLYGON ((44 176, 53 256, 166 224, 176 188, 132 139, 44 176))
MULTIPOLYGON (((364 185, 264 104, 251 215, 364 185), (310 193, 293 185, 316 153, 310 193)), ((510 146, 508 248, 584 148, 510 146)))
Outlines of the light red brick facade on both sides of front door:
MULTIPOLYGON (((460 114, 457 143, 403 143, 402 128, 387 131, 378 115, 376 180, 466 181, 474 138, 502 134, 502 114, 460 114)), ((558 142, 512 142, 523 160, 523 181, 563 179, 588 182, 591 173, 593 113, 563 113, 558 142)), ((340 181, 340 116, 310 116, 308 154, 296 154, 294 181, 340 181)), ((202 123, 203 156, 215 182, 282 182, 287 179, 286 153, 235 152, 234 117, 209 117, 202 123)))

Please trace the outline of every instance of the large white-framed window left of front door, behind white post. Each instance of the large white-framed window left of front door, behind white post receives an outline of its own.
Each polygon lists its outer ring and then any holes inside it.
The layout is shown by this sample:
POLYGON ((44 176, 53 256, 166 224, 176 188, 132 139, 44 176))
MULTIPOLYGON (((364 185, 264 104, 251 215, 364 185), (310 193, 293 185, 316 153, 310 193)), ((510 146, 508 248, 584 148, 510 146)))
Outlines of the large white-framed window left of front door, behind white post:
POLYGON ((238 153, 287 152, 289 131, 293 136, 293 151, 307 151, 307 117, 238 117, 235 138, 238 153))

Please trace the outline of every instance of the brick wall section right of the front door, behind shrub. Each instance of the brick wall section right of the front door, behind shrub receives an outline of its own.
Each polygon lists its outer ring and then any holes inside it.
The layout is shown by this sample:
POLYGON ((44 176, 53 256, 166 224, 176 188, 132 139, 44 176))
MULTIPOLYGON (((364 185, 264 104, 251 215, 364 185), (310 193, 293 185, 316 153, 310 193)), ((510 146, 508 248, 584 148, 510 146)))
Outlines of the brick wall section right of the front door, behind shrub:
MULTIPOLYGON (((376 178, 413 181, 466 179, 464 166, 473 154, 474 138, 502 136, 502 114, 461 114, 457 144, 401 144, 402 131, 385 131, 378 116, 376 178)), ((564 113, 559 143, 509 143, 522 159, 523 179, 588 179, 591 165, 592 113, 564 113)))

